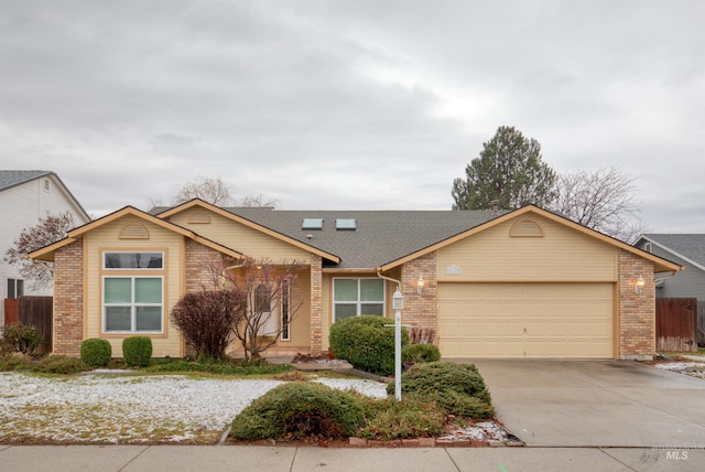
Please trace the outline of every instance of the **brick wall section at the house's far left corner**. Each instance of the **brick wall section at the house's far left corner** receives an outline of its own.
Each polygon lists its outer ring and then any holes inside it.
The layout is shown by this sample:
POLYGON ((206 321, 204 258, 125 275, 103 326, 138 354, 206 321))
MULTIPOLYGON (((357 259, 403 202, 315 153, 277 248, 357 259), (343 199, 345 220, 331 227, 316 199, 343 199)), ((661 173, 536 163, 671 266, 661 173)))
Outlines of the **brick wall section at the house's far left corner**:
POLYGON ((78 356, 84 337, 83 240, 59 248, 54 268, 54 353, 78 356))

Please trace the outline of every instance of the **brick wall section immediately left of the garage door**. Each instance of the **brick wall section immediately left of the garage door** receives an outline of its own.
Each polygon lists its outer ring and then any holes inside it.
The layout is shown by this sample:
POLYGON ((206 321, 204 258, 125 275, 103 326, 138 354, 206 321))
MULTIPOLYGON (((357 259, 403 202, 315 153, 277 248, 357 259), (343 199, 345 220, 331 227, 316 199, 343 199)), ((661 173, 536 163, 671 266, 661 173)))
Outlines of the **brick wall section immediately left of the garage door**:
MULTIPOLYGON (((430 253, 411 260, 402 267, 402 294, 404 309, 401 312, 402 323, 417 328, 436 328, 437 290, 436 253, 430 253), (423 291, 417 293, 419 276, 423 276, 423 291)), ((393 313, 392 313, 393 314, 393 313)))

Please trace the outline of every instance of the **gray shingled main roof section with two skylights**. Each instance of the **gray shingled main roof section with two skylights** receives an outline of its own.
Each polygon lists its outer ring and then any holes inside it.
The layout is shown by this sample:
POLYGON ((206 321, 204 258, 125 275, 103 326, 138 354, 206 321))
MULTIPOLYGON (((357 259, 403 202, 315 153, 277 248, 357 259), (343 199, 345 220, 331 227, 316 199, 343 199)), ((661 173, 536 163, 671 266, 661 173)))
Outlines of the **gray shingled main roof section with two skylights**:
POLYGON ((338 256, 335 267, 346 269, 392 262, 498 216, 488 211, 225 210, 338 256), (323 218, 323 228, 303 229, 304 218, 323 218), (336 218, 355 219, 356 229, 336 229, 336 218))

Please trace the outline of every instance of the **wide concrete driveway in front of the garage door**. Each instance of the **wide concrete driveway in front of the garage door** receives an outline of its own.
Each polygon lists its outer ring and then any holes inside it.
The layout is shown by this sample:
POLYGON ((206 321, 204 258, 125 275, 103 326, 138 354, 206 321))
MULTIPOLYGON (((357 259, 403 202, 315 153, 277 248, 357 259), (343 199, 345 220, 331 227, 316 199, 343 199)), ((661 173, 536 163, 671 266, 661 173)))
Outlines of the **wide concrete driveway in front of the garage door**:
POLYGON ((475 361, 528 446, 705 448, 705 379, 631 361, 475 361))

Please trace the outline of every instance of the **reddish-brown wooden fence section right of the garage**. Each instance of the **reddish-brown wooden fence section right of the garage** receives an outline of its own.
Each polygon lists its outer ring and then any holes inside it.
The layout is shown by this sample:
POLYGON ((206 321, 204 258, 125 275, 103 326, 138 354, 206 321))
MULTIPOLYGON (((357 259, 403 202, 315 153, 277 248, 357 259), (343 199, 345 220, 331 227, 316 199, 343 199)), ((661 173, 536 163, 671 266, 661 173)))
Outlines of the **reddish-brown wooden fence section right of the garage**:
POLYGON ((657 351, 697 351, 697 300, 657 298, 657 351))

